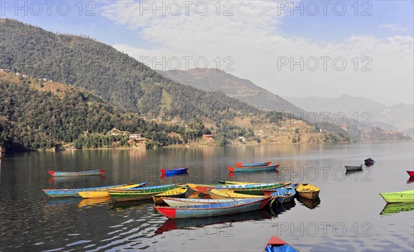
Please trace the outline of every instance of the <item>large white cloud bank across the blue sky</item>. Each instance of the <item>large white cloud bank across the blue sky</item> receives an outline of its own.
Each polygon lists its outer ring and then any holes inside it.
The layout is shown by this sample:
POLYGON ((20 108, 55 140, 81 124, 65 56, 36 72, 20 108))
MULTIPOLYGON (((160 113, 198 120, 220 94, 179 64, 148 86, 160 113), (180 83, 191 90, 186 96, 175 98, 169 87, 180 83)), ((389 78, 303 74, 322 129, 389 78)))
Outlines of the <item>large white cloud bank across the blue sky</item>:
MULTIPOLYGON (((168 6, 170 1, 165 3, 168 6)), ((168 11, 164 16, 160 15, 161 11, 153 15, 151 10, 141 10, 140 14, 139 8, 143 6, 130 1, 111 3, 103 7, 102 14, 121 26, 127 26, 131 32, 139 32, 148 41, 148 48, 136 48, 133 42, 113 45, 137 59, 155 57, 161 61, 162 57, 166 60, 178 57, 181 69, 185 69, 182 57, 193 57, 190 68, 195 67, 196 57, 206 57, 208 66, 215 68, 219 57, 220 68, 223 69, 231 63, 224 58, 231 57, 234 60, 231 74, 250 79, 279 95, 334 97, 344 93, 368 94, 385 104, 413 104, 413 37, 378 39, 351 35, 338 43, 314 42, 303 37, 290 37, 281 30, 283 16, 277 12, 276 2, 235 1, 233 8, 221 5, 220 15, 213 6, 217 2, 207 3, 209 11, 204 16, 195 13, 194 4, 188 15, 184 8, 177 16, 168 14, 168 11), (224 16, 224 10, 229 8, 234 15, 224 16), (316 57, 319 68, 300 71, 295 66, 292 71, 289 66, 283 66, 278 70, 278 57, 293 57, 295 61, 304 57, 304 62, 309 57, 316 57), (320 57, 331 57, 328 70, 323 70, 320 57), (333 68, 332 59, 336 57, 345 59, 345 70, 333 68), (355 57, 358 57, 357 71, 355 57), (363 57, 368 58, 362 61, 363 57), (363 66, 372 70, 361 71, 363 66)), ((159 65, 157 68, 163 67, 159 65)))

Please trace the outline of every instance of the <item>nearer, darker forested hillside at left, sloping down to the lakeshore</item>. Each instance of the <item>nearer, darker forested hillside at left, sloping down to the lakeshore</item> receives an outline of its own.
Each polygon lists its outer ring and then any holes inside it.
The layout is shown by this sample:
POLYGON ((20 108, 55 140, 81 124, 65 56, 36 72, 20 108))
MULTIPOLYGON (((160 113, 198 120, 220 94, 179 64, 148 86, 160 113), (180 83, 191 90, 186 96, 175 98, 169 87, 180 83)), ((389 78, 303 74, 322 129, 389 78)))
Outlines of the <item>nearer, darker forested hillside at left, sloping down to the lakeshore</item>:
POLYGON ((112 128, 141 133, 149 139, 147 147, 181 144, 210 131, 200 123, 189 125, 146 122, 85 90, 0 72, 0 144, 9 151, 58 148, 68 142, 76 148, 128 146, 128 135, 106 135, 112 128))

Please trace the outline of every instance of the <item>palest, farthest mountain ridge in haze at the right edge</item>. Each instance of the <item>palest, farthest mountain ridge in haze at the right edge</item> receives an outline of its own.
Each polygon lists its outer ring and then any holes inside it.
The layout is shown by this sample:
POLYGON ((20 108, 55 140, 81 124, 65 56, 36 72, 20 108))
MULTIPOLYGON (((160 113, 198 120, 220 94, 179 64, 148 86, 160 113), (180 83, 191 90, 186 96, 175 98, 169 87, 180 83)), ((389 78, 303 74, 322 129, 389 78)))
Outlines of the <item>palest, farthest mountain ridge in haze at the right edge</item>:
MULTIPOLYGON (((369 96, 369 95, 368 95, 369 96)), ((319 112, 342 112, 350 120, 356 118, 364 122, 368 115, 362 117, 362 113, 370 113, 372 117, 368 120, 373 126, 386 129, 411 129, 414 122, 414 106, 406 104, 395 104, 386 106, 370 98, 353 97, 342 95, 336 98, 327 97, 284 97, 293 104, 306 108, 308 111, 319 112), (388 127, 388 128, 387 128, 388 127)))

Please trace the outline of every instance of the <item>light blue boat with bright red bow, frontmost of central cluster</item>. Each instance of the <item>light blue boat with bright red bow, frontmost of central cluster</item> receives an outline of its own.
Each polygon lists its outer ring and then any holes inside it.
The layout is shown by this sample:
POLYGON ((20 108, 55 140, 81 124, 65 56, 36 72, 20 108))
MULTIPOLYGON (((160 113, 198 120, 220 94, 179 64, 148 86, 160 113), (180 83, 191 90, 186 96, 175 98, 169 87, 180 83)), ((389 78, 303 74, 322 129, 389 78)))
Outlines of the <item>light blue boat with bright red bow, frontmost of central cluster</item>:
POLYGON ((210 217, 219 215, 232 215, 262 209, 270 197, 264 196, 251 199, 240 199, 231 202, 204 204, 195 206, 155 206, 155 209, 168 219, 184 219, 194 217, 210 217))

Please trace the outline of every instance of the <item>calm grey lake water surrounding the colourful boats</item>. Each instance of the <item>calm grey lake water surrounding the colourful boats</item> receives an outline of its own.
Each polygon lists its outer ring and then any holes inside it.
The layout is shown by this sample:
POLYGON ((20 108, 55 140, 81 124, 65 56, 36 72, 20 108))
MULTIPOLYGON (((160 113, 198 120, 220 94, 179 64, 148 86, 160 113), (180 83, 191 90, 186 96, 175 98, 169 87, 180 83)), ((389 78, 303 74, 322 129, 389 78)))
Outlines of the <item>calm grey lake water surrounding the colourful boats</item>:
MULTIPOLYGON (((1 159, 0 251, 262 251, 277 235, 301 251, 414 251, 414 211, 393 212, 379 193, 413 190, 413 142, 262 145, 162 150, 19 153, 1 159), (344 165, 375 165, 345 174, 344 165), (235 162, 272 161, 279 173, 236 173, 235 162), (160 167, 188 166, 162 179, 160 167), (104 176, 51 179, 46 171, 106 168, 104 176), (42 188, 216 180, 309 182, 320 200, 242 215, 167 221, 151 201, 51 199, 42 188), (384 209, 385 208, 385 209, 384 209)), ((190 193, 190 192, 189 192, 190 193)), ((411 205, 399 206, 413 209, 411 205)))

